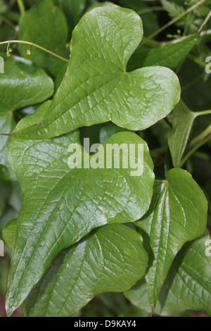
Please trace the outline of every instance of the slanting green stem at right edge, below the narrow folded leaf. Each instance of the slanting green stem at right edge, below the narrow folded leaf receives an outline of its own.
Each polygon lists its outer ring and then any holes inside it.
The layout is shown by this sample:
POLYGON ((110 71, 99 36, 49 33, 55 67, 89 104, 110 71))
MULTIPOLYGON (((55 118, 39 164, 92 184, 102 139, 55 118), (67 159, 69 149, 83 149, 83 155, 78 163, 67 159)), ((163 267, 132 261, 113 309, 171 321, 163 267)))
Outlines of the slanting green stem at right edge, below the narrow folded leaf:
POLYGON ((200 146, 203 146, 206 142, 211 139, 211 124, 205 129, 203 132, 200 133, 197 137, 193 138, 191 142, 189 142, 187 146, 188 154, 181 160, 179 163, 179 168, 188 160, 188 158, 195 152, 200 146))

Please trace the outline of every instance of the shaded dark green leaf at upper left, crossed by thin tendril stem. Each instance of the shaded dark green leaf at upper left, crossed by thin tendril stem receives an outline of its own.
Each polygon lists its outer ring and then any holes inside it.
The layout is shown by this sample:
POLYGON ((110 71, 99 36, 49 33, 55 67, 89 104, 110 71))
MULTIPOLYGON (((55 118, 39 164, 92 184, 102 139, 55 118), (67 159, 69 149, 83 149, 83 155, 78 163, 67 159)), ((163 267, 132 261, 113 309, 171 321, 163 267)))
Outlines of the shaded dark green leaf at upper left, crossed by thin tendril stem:
MULTIPOLYGON (((19 39, 33 42, 53 51, 53 53, 68 58, 69 52, 65 45, 68 42, 68 25, 65 15, 51 0, 38 1, 29 11, 22 15, 19 23, 19 39)), ((23 58, 29 58, 42 68, 49 68, 60 61, 59 58, 41 51, 33 46, 31 55, 27 56, 28 46, 19 44, 23 58)))

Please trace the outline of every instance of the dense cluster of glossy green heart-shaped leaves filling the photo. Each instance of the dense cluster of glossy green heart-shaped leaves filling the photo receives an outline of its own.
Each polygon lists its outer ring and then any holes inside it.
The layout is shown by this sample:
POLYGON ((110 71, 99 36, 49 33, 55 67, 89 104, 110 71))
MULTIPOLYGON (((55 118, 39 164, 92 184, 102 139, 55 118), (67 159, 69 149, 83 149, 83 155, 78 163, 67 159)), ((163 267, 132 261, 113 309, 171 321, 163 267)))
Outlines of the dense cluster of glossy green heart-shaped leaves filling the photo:
POLYGON ((23 316, 74 316, 106 292, 148 313, 211 316, 210 1, 32 0, 20 1, 21 15, 9 2, 0 1, 8 316, 20 305, 23 316), (174 20, 169 39, 158 16, 174 20), (143 144, 143 174, 69 168, 70 144, 95 157, 83 137, 143 144))

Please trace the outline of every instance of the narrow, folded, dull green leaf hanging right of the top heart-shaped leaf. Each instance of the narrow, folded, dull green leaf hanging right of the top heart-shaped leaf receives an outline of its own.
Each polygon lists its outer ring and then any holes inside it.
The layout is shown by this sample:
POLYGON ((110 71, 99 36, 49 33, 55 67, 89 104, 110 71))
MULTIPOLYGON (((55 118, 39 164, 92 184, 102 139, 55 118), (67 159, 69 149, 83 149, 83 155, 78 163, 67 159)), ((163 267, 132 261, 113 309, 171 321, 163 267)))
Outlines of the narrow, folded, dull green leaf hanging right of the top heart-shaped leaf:
POLYGON ((197 113, 190 111, 183 101, 174 108, 173 130, 168 138, 174 167, 181 162, 196 117, 197 113))

